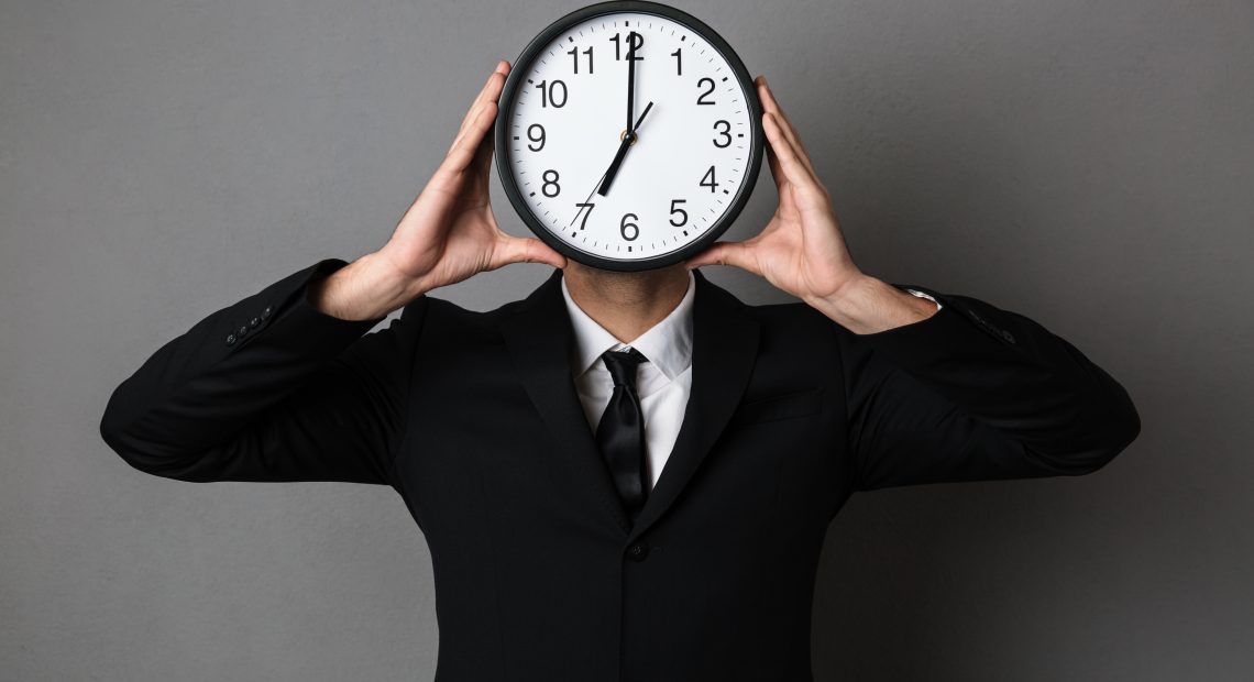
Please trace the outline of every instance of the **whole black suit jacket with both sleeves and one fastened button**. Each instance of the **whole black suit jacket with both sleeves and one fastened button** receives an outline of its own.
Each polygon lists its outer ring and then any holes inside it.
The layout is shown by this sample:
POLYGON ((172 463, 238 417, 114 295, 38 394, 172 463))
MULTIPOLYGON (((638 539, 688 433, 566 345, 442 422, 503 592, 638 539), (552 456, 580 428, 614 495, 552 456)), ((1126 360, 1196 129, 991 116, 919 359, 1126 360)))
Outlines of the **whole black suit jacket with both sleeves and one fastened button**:
POLYGON ((436 679, 809 681, 825 530, 890 485, 1086 474, 1131 443, 1127 392, 1016 312, 944 306, 854 335, 696 272, 692 392, 631 525, 579 406, 561 270, 488 312, 421 296, 319 312, 330 258, 219 310, 122 382, 100 424, 186 481, 393 486, 431 552, 436 679))

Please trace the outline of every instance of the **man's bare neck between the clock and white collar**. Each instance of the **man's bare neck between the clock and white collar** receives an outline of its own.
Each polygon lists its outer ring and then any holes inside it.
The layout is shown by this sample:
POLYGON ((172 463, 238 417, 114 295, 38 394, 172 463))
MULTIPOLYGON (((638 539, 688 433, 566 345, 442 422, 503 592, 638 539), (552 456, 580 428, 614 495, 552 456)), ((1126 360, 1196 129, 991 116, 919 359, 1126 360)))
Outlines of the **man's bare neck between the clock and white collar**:
POLYGON ((614 272, 568 260, 562 277, 576 305, 623 344, 666 318, 688 291, 683 263, 614 272))

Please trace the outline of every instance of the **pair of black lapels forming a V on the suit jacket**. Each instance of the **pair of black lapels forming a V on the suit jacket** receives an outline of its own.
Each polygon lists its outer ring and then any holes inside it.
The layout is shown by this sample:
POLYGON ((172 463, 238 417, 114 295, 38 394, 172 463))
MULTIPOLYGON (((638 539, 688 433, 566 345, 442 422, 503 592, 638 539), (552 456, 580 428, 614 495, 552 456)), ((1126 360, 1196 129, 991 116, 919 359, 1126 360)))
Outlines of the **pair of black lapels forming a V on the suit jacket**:
POLYGON ((502 333, 527 394, 562 444, 581 489, 591 491, 628 542, 675 503, 740 404, 757 355, 759 322, 729 291, 693 271, 692 390, 675 449, 632 524, 597 448, 571 375, 574 331, 554 270, 502 322, 502 333))

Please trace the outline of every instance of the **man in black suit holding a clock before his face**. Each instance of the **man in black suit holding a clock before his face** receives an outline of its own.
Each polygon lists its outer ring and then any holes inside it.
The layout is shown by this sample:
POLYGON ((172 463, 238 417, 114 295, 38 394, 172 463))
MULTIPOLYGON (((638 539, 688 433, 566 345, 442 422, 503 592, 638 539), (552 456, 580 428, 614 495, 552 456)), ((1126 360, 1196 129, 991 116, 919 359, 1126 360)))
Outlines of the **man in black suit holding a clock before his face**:
POLYGON ((1037 322, 860 272, 762 79, 780 204, 760 234, 643 273, 505 234, 487 133, 508 68, 384 248, 203 318, 100 424, 158 476, 393 486, 431 550, 438 679, 809 681, 850 494, 1087 474, 1139 434, 1124 387, 1037 322), (428 295, 520 261, 556 268, 524 300, 428 295), (709 263, 800 302, 745 305, 709 263))

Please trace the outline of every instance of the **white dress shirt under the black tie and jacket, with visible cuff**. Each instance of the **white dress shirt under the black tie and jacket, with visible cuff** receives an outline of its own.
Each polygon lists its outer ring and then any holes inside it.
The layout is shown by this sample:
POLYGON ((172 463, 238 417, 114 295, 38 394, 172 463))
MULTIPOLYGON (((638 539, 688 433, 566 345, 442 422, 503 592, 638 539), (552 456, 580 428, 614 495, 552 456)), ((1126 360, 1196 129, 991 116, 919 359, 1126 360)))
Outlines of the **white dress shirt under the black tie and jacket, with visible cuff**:
MULTIPOLYGON (((937 303, 935 298, 922 291, 907 290, 937 303)), ((562 278, 562 296, 571 313, 571 326, 574 328, 574 349, 571 359, 571 374, 588 417, 592 433, 597 433, 601 415, 609 405, 614 382, 606 369, 601 354, 621 351, 628 347, 640 351, 648 361, 641 362, 636 370, 636 394, 645 414, 645 451, 648 458, 648 488, 666 465, 675 440, 680 435, 683 412, 688 405, 692 390, 692 301, 696 295, 696 277, 688 272, 688 290, 680 305, 630 344, 618 341, 596 320, 583 312, 583 308, 571 298, 571 291, 562 278)))

